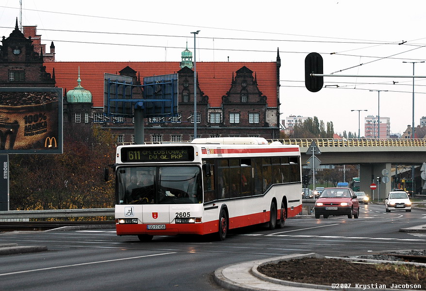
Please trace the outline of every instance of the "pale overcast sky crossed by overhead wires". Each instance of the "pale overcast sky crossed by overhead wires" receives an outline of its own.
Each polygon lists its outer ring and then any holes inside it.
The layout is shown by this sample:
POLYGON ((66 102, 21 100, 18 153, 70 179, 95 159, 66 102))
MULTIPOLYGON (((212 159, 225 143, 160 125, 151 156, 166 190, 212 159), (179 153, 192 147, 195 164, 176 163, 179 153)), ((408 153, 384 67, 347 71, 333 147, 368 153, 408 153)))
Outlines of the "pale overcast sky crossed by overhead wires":
MULTIPOLYGON (((20 22, 19 7, 1 1, 0 36, 20 22)), ((362 136, 367 115, 390 117, 392 133, 411 125, 413 79, 325 77, 327 87, 311 93, 305 57, 320 53, 325 74, 412 76, 403 62, 426 59, 425 8, 424 0, 22 0, 22 25, 36 25, 48 51, 54 42, 57 61, 180 62, 197 30, 197 62, 269 62, 279 49, 281 119, 317 116, 337 133, 358 132, 351 110, 368 110, 362 136), (388 90, 380 112, 370 90, 388 90)), ((426 76, 426 63, 414 67, 426 76)), ((426 116, 425 80, 415 79, 415 126, 426 116)))

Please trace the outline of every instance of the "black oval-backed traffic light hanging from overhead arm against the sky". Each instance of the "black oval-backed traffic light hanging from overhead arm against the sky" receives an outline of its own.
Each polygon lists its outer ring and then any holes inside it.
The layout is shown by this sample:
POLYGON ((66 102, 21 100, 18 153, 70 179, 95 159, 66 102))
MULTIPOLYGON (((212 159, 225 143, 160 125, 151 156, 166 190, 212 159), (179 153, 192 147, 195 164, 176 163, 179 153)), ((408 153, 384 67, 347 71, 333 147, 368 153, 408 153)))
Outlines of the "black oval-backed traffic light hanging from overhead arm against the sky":
POLYGON ((318 92, 324 85, 324 77, 311 77, 311 74, 323 74, 323 57, 311 52, 305 58, 305 87, 311 92, 318 92))

